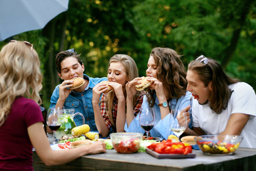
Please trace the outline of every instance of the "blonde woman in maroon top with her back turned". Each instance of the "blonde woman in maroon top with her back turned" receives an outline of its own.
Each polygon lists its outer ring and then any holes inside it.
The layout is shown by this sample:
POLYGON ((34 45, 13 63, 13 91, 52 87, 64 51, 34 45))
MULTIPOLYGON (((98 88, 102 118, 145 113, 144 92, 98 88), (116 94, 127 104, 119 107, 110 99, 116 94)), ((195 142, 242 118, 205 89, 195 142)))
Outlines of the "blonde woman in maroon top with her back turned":
POLYGON ((0 51, 0 168, 33 170, 32 147, 46 165, 105 152, 101 142, 70 150, 51 149, 39 108, 42 74, 38 54, 29 42, 11 40, 0 51))

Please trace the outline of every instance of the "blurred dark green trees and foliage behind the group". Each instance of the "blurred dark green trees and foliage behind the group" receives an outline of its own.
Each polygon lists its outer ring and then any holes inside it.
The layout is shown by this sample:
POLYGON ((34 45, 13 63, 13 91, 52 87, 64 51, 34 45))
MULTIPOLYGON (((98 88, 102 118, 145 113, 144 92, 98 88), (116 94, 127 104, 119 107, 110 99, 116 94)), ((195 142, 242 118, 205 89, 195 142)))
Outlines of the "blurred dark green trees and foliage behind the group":
MULTIPOLYGON (((46 9, 47 10, 47 9, 46 9)), ((41 62, 44 107, 60 80, 55 54, 75 48, 84 73, 107 76, 109 58, 128 54, 145 75, 154 47, 173 48, 185 66, 205 55, 218 60, 227 74, 256 90, 256 1, 254 0, 70 0, 66 12, 42 30, 10 39, 34 44, 41 62)))

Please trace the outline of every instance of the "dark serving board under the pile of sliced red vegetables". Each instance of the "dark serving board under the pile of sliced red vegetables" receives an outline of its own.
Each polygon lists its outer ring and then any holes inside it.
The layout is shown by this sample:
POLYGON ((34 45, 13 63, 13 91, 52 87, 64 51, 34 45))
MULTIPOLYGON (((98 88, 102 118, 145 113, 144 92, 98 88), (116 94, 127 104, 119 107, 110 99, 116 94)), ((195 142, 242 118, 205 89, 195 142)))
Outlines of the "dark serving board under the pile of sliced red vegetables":
POLYGON ((188 153, 188 154, 160 154, 155 152, 154 150, 146 148, 146 152, 151 154, 151 156, 156 158, 194 158, 196 154, 188 153))

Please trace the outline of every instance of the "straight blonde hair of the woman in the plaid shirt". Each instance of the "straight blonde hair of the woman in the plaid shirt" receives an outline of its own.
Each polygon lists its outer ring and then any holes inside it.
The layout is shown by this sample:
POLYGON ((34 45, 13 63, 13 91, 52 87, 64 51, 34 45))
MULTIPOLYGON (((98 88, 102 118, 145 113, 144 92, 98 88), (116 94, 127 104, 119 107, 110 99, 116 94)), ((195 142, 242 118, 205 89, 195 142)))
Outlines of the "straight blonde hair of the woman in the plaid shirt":
MULTIPOLYGON (((136 63, 132 59, 131 56, 123 55, 123 54, 117 54, 117 55, 112 56, 112 58, 109 60, 108 68, 109 68, 110 64, 113 62, 120 62, 121 64, 123 64, 123 66, 125 68, 125 72, 127 74, 128 81, 131 81, 131 80, 139 77, 136 63)), ((126 91, 124 93, 126 93, 126 91)), ((137 92, 136 95, 133 96, 133 103, 136 102, 136 98, 138 95, 139 95, 139 92, 137 92)), ((116 124, 114 123, 113 114, 112 114, 114 97, 115 97, 115 92, 112 91, 112 92, 108 93, 106 101, 107 101, 107 105, 108 105, 107 115, 108 115, 109 120, 111 121, 112 125, 115 127, 116 124)))

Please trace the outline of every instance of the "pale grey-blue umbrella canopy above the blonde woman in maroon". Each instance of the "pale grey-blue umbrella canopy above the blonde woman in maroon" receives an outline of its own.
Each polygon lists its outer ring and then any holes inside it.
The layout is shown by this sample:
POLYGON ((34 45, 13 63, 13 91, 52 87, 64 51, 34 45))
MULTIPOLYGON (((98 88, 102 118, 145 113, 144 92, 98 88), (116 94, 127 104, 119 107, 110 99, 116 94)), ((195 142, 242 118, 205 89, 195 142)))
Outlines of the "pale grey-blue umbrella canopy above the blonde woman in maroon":
POLYGON ((69 0, 0 0, 0 41, 46 26, 68 9, 69 0))

